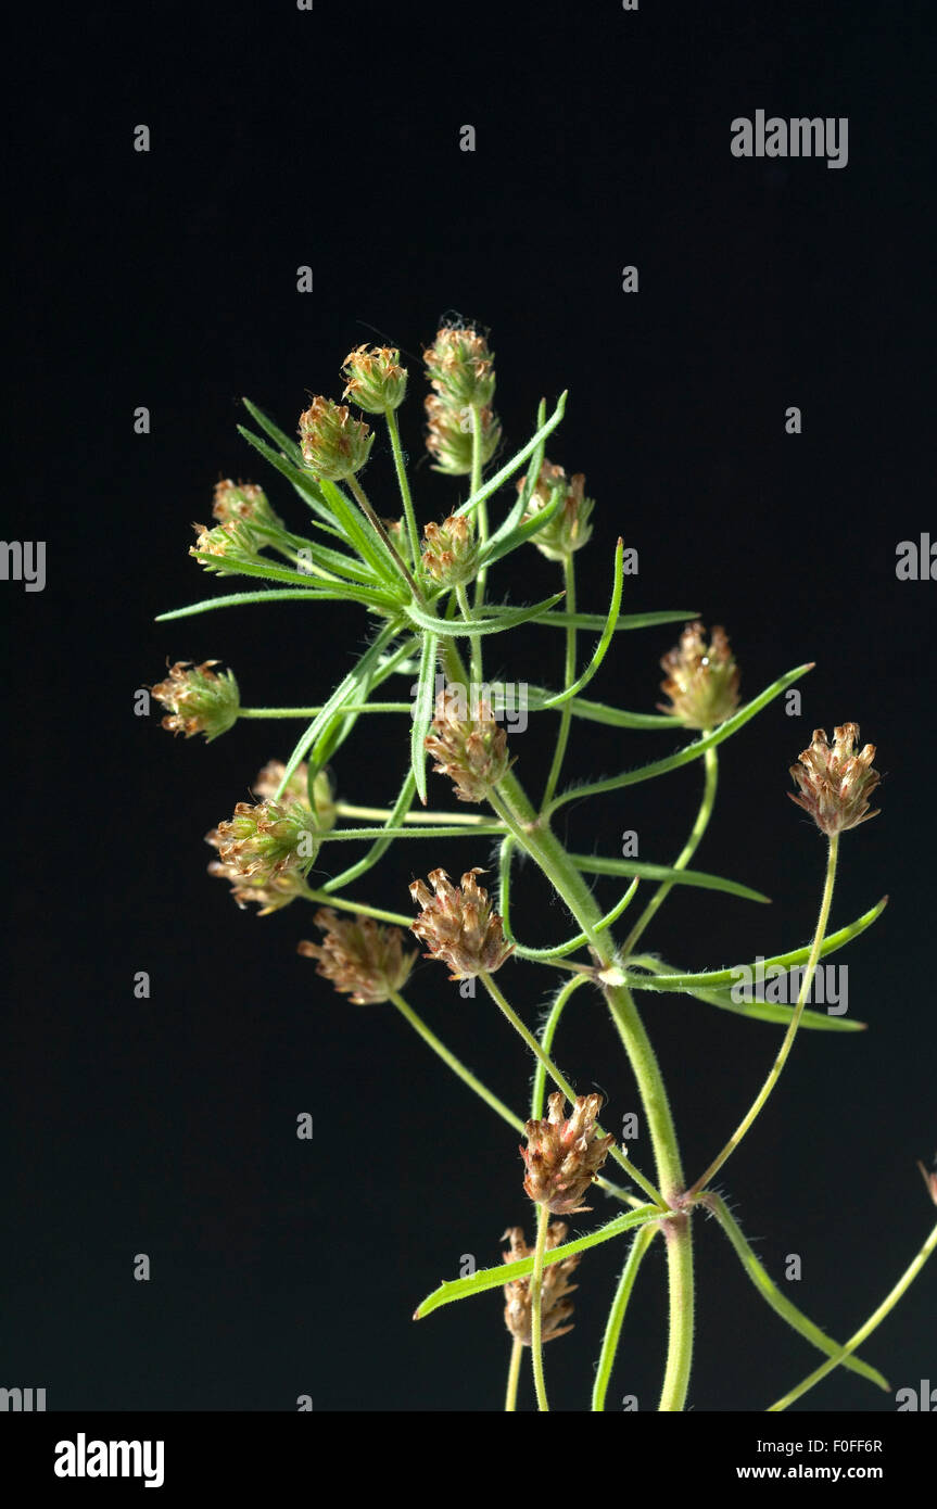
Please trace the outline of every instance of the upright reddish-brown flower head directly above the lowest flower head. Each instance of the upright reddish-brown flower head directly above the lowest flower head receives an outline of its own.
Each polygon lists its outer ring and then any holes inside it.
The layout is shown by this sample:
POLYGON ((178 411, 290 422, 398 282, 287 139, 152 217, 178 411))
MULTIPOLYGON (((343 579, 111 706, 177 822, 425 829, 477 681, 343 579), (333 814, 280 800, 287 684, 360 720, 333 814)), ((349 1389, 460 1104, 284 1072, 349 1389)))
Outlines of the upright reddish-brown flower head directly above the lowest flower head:
POLYGON ((527 1147, 521 1157, 527 1168, 524 1189, 537 1204, 557 1216, 588 1210, 582 1195, 593 1183, 614 1136, 596 1135, 596 1118, 602 1096, 576 1096, 573 1114, 566 1118, 566 1096, 555 1091, 549 1100, 549 1115, 525 1126, 527 1147))

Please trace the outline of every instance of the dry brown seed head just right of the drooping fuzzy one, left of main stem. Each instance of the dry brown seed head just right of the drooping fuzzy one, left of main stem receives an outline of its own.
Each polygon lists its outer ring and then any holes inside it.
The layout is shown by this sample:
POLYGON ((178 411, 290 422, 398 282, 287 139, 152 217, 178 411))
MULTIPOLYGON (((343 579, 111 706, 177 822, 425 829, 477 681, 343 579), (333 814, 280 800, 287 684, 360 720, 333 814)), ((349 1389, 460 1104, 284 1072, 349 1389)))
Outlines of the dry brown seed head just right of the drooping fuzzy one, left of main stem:
POLYGON ((410 931, 425 943, 424 958, 450 966, 450 979, 471 979, 483 972, 493 975, 515 952, 515 945, 504 940, 501 917, 487 890, 475 881, 475 875, 483 874, 478 868, 466 871, 457 890, 444 869, 433 869, 430 886, 436 895, 430 895, 421 880, 410 886, 410 896, 422 907, 410 931))

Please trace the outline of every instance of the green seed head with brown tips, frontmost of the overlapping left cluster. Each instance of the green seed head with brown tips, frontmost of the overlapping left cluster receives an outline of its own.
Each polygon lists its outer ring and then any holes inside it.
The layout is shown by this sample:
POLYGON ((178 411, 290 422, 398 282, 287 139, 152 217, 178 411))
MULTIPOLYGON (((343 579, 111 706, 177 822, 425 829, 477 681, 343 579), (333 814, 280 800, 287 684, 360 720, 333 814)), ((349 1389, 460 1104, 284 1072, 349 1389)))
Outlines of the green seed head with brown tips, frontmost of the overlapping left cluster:
POLYGON ((305 880, 321 841, 315 815, 302 801, 238 801, 234 816, 205 834, 234 875, 261 886, 278 875, 305 880))

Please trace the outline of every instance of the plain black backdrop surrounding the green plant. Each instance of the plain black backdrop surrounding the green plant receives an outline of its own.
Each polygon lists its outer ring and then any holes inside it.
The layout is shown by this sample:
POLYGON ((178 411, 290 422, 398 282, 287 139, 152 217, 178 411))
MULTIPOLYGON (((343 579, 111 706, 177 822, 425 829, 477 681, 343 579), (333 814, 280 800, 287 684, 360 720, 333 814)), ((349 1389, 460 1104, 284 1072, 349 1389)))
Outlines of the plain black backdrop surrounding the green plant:
MULTIPOLYGON (((302 902, 258 920, 205 875, 202 834, 299 729, 250 723, 205 747, 133 712, 167 658, 223 658, 247 705, 324 699, 365 641, 361 610, 154 617, 223 590, 187 555, 219 475, 270 483, 302 528, 299 501, 235 433, 240 395, 291 430, 309 392, 338 397, 361 341, 391 341, 409 365, 401 423, 421 518, 463 496, 422 459, 419 352, 453 311, 492 332, 505 453, 540 395, 570 391, 549 454, 585 471, 598 499, 582 607, 607 605, 622 533, 640 552, 626 611, 724 623, 745 694, 816 661, 800 718, 776 702, 724 745, 697 856, 773 905, 677 890, 647 946, 703 969, 807 942, 824 848, 785 795, 788 767, 816 724, 856 720, 878 745, 883 815, 843 839, 834 901, 840 925, 892 898, 840 955, 849 1013, 869 1031, 803 1034, 721 1188, 777 1278, 801 1254, 789 1292, 837 1337, 917 1251, 932 1210, 914 1160, 937 1139, 937 584, 899 582, 895 552, 928 527, 937 539, 931 27, 910 5, 317 0, 305 14, 276 0, 53 6, 21 32, 8 62, 5 534, 47 540, 48 581, 0 593, 0 1382, 45 1387, 50 1409, 290 1411, 303 1393, 317 1409, 501 1405, 499 1296, 418 1325, 410 1314, 462 1254, 487 1266, 505 1225, 530 1227, 516 1138, 391 1007, 346 1003, 296 957, 314 936, 302 902), (848 166, 732 157, 729 124, 756 109, 848 116, 848 166), (133 149, 137 124, 148 154, 133 149), (474 154, 459 149, 463 124, 474 154), (302 264, 311 294, 296 291, 302 264), (638 294, 622 293, 623 264, 637 264, 638 294), (134 435, 139 404, 148 436, 134 435), (785 433, 789 404, 800 436, 785 433), (134 999, 137 970, 151 973, 148 1000, 134 999), (302 1111, 311 1144, 294 1135, 302 1111), (133 1280, 137 1252, 149 1283, 133 1280)), ((382 439, 368 487, 395 510, 382 439)), ((554 582, 533 549, 496 576, 513 601, 554 582)), ((591 694, 652 709, 674 637, 620 635, 591 694)), ((490 670, 560 675, 558 635, 489 644, 490 670)), ((554 729, 545 715, 515 742, 534 791, 554 729)), ((406 739, 404 720, 359 726, 336 762, 341 795, 392 800, 406 739)), ((673 747, 579 724, 566 779, 673 747)), ((699 782, 693 765, 566 807, 560 833, 614 854, 637 828, 641 857, 668 862, 699 782)), ((471 844, 398 845, 358 895, 406 911, 415 874, 489 859, 471 844)), ((611 905, 614 881, 599 895, 611 905)), ((533 943, 569 930, 530 866, 515 924, 533 943)), ((508 964, 499 979, 533 1025, 548 972, 508 964)), ((522 1047, 481 994, 462 1000, 430 963, 409 994, 524 1112, 522 1047)), ((750 1103, 777 1032, 684 997, 650 999, 644 1014, 694 1177, 750 1103)), ((610 1126, 634 1109, 598 997, 575 997, 558 1056, 581 1089, 610 1097, 610 1126)), ((632 1156, 649 1166, 646 1139, 632 1156)), ((607 1209, 598 1197, 596 1215, 607 1209)), ((691 1405, 763 1409, 818 1357, 703 1221, 697 1255, 691 1405)), ((587 1408, 620 1257, 608 1245, 581 1265, 576 1329, 546 1354, 557 1408, 587 1408)), ((893 1390, 937 1376, 932 1313, 925 1272, 865 1348, 893 1390)), ((610 1408, 625 1393, 655 1408, 664 1320, 653 1251, 610 1408)), ((842 1372, 804 1403, 895 1409, 842 1372)))

